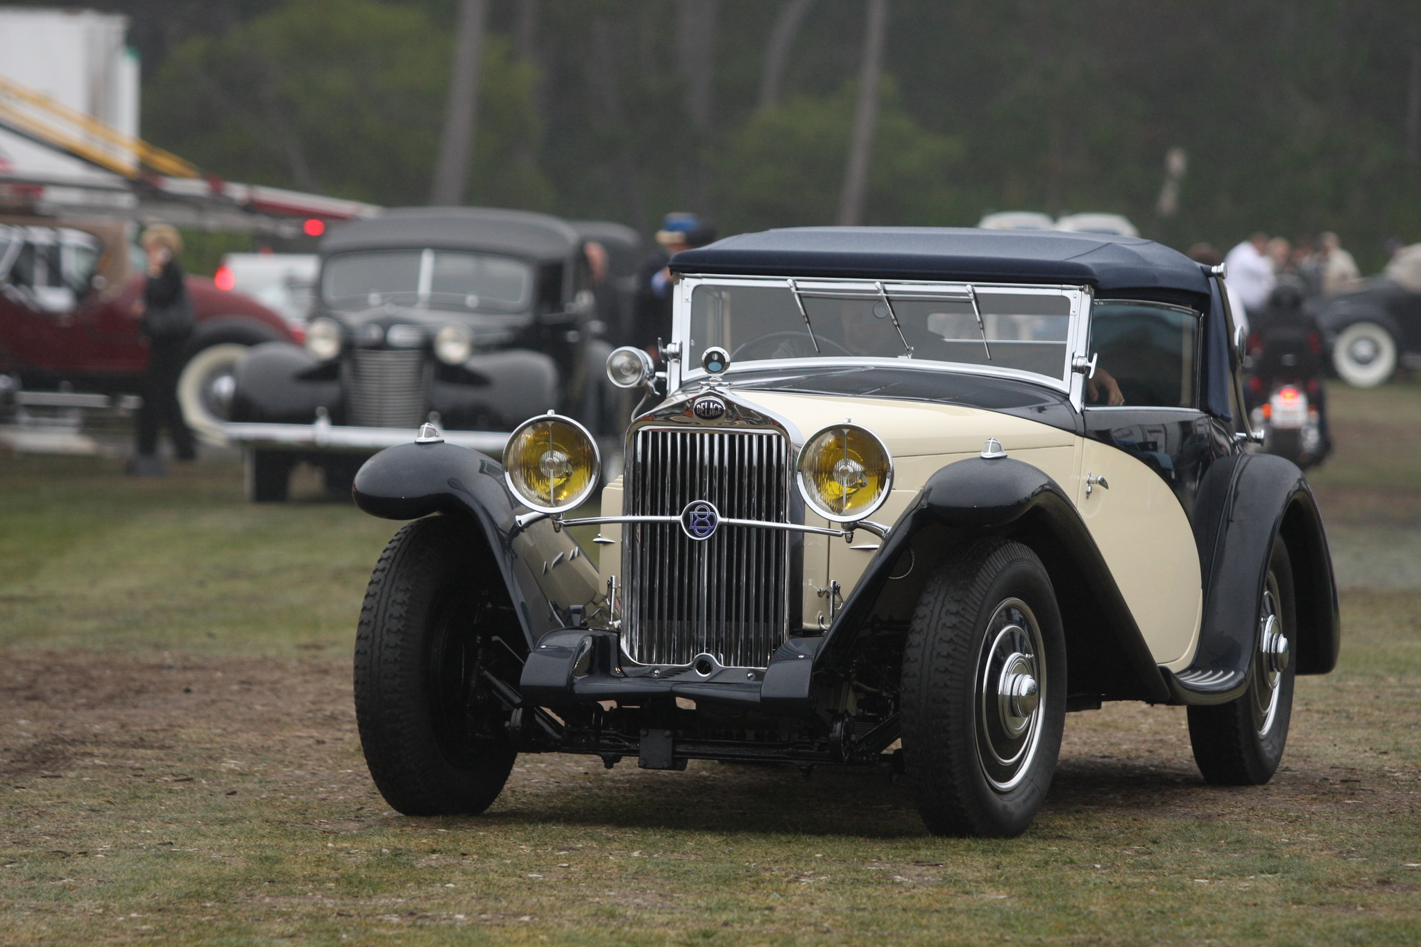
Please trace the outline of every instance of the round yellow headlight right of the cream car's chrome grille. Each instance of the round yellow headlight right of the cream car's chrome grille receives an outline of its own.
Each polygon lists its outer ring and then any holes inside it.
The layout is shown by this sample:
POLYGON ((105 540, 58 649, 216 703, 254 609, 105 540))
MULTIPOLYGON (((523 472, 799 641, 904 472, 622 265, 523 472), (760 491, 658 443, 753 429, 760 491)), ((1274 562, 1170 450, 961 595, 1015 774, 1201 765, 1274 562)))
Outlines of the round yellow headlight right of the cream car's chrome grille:
POLYGON ((814 513, 834 522, 851 522, 888 498, 892 457, 871 430, 831 425, 804 444, 796 480, 814 513))

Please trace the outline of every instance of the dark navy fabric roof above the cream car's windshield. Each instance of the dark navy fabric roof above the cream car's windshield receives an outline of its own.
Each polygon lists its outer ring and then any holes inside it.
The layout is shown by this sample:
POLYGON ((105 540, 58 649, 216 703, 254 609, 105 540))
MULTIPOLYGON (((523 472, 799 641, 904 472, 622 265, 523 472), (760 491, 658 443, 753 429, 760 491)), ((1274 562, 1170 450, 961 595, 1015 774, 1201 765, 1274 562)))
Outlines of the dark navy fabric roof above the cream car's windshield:
POLYGON ((878 277, 1093 285, 1100 292, 1172 290, 1209 295, 1182 253, 1096 233, 966 227, 793 227, 743 233, 678 253, 676 273, 878 277))

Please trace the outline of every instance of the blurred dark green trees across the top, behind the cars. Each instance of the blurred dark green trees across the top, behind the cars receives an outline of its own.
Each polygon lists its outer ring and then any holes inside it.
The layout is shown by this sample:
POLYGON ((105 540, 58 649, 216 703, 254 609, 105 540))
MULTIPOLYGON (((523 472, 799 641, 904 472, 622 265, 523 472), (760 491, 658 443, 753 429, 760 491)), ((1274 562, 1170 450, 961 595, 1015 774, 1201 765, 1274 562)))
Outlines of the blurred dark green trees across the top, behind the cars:
MULTIPOLYGON (((87 6, 132 17, 153 143, 429 202, 456 0, 87 6)), ((487 0, 466 200, 642 233, 668 210, 834 223, 868 6, 487 0)), ((1417 0, 888 0, 884 37, 864 223, 1107 210, 1222 248, 1337 230, 1368 270, 1421 240, 1417 0)))

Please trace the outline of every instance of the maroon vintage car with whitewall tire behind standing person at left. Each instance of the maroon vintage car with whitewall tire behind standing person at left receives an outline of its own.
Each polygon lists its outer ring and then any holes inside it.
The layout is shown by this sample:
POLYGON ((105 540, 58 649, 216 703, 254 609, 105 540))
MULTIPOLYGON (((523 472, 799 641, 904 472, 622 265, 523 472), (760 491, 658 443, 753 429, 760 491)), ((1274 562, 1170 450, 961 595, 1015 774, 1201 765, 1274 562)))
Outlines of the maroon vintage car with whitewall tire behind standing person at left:
MULTIPOLYGON (((138 392, 148 349, 131 311, 142 288, 131 226, 0 217, 0 375, 26 390, 138 392)), ((223 443, 237 359, 298 339, 280 315, 212 280, 188 277, 188 291, 198 327, 178 398, 195 433, 223 443)))

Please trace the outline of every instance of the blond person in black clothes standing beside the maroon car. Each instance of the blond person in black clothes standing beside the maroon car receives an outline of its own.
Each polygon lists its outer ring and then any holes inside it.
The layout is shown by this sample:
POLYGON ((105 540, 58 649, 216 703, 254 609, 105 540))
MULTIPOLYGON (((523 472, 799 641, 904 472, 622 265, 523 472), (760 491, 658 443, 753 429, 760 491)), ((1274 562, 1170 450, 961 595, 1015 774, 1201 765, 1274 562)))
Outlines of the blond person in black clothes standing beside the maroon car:
POLYGON ((183 285, 178 254, 182 237, 168 224, 153 224, 139 244, 148 256, 148 284, 134 302, 138 329, 148 342, 148 368, 144 372, 144 406, 138 412, 138 449, 129 471, 162 476, 158 457, 158 433, 168 429, 179 460, 198 456, 192 430, 178 405, 178 375, 182 372, 188 338, 192 335, 193 308, 183 285))

